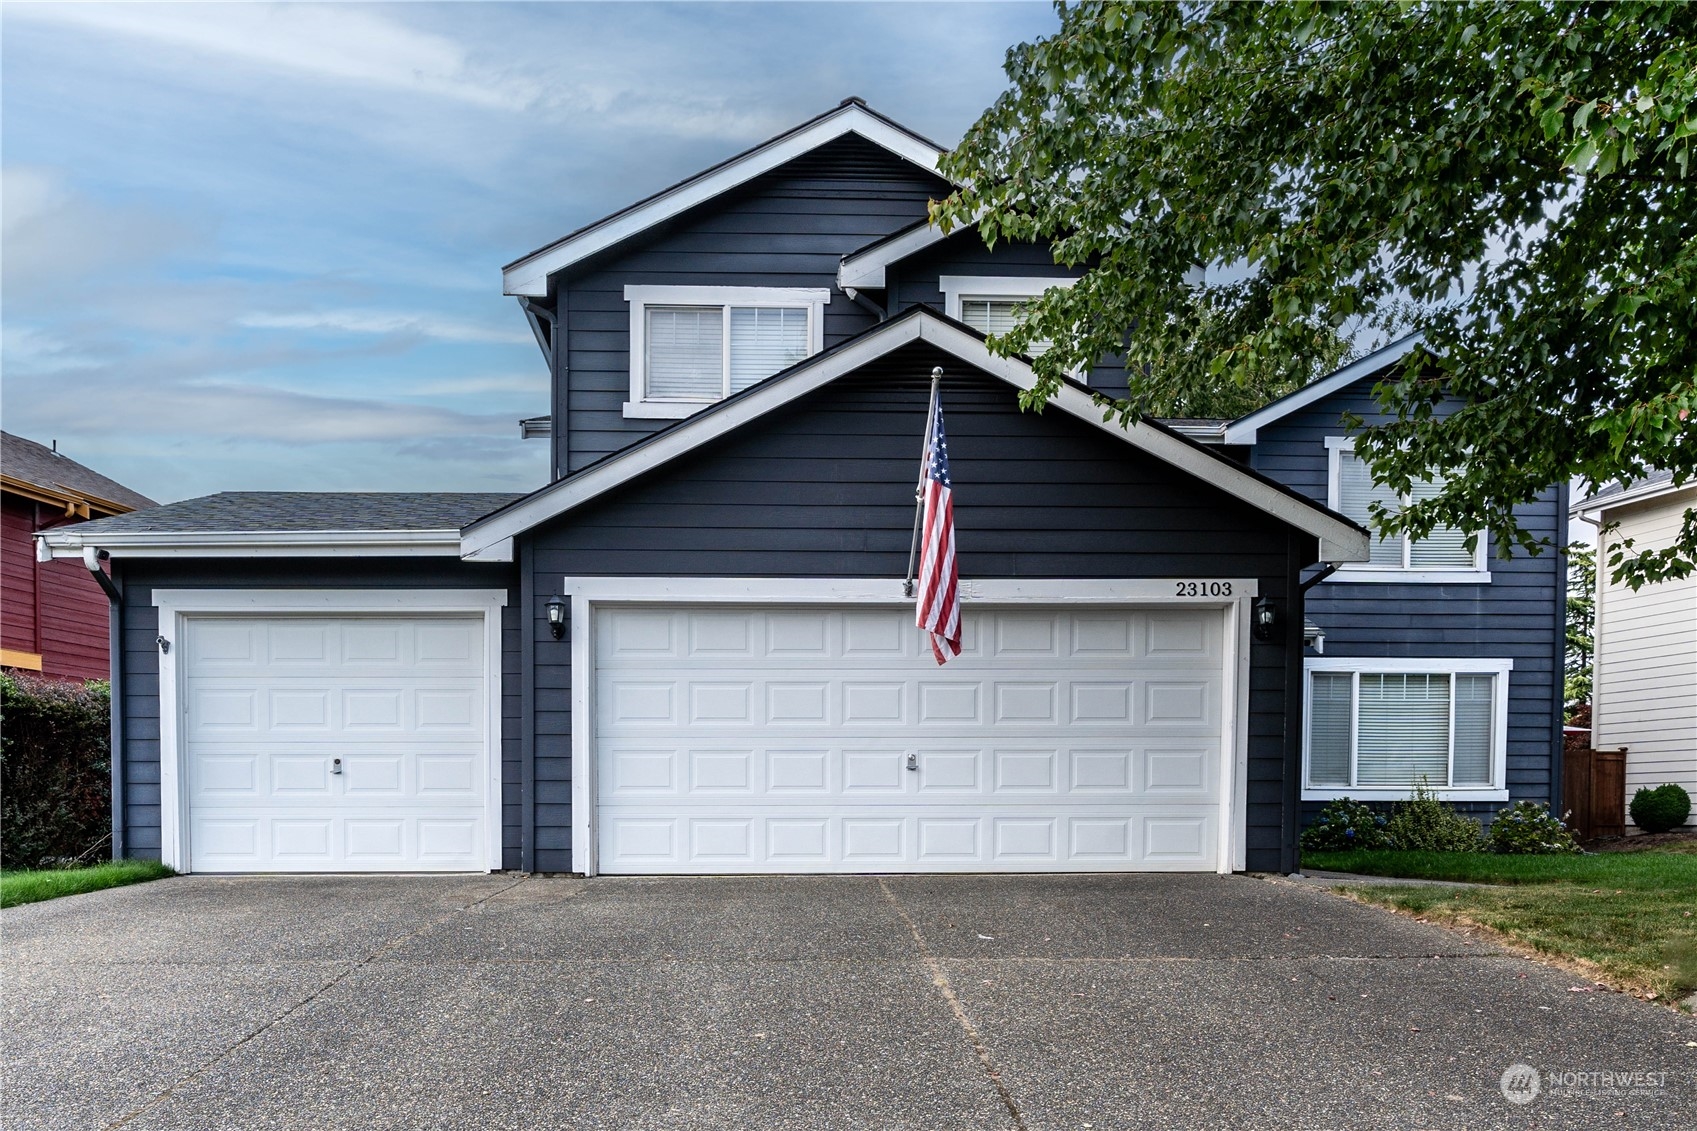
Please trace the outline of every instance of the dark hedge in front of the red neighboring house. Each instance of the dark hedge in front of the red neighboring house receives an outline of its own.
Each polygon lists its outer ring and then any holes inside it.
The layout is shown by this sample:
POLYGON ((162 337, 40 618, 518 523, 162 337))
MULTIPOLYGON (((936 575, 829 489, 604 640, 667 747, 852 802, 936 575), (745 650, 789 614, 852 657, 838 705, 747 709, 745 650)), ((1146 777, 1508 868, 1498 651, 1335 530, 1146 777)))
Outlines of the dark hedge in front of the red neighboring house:
POLYGON ((112 695, 0 674, 0 868, 110 856, 112 695))

